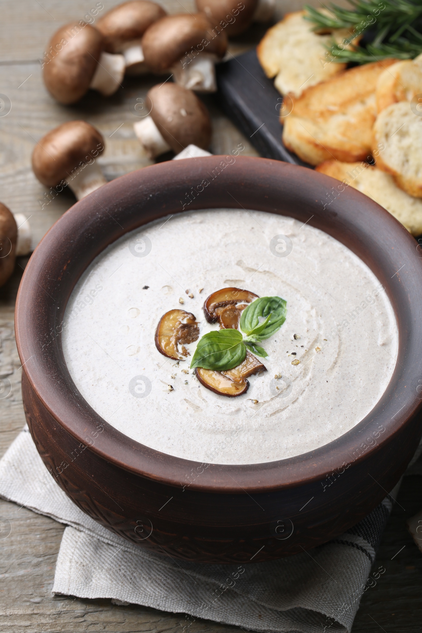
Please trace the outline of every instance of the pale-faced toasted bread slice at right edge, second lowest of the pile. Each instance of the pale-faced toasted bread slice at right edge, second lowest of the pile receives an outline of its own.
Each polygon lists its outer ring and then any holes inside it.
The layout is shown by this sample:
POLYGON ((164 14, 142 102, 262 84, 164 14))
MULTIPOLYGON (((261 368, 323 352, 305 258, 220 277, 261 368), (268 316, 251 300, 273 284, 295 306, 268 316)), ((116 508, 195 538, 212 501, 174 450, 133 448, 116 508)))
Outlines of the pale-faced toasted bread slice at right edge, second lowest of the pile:
MULTIPOLYGON (((422 112, 421 112, 422 115, 422 112)), ((422 197, 422 116, 409 101, 393 103, 376 118, 373 146, 384 147, 377 165, 391 173, 400 189, 422 197)))

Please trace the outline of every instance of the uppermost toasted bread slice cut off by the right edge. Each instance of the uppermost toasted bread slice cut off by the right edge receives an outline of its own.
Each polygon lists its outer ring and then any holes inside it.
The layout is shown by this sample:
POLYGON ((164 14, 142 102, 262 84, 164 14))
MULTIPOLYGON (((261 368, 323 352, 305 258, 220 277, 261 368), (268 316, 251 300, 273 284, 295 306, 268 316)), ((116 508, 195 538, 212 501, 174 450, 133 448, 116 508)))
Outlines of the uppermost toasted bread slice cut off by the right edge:
POLYGON ((381 112, 392 103, 411 101, 417 94, 422 94, 422 55, 398 61, 378 77, 376 109, 381 112))

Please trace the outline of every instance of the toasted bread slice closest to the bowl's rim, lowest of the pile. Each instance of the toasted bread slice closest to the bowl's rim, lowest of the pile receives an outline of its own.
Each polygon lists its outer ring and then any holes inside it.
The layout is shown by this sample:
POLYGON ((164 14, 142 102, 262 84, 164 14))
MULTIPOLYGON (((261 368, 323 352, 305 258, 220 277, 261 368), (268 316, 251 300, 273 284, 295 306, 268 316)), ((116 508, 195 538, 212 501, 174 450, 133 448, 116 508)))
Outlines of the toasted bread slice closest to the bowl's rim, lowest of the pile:
POLYGON ((316 171, 361 191, 394 215, 411 234, 422 234, 422 201, 399 189, 389 173, 368 163, 340 163, 336 160, 321 163, 316 171))

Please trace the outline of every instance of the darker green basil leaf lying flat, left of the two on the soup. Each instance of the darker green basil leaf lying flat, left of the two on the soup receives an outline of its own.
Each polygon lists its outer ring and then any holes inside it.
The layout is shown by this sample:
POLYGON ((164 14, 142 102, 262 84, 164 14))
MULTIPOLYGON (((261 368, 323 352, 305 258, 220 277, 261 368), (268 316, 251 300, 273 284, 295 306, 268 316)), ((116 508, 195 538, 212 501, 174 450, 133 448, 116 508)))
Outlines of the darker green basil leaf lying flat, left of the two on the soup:
POLYGON ((199 340, 190 367, 224 372, 243 363, 245 356, 246 348, 239 330, 214 330, 199 340))

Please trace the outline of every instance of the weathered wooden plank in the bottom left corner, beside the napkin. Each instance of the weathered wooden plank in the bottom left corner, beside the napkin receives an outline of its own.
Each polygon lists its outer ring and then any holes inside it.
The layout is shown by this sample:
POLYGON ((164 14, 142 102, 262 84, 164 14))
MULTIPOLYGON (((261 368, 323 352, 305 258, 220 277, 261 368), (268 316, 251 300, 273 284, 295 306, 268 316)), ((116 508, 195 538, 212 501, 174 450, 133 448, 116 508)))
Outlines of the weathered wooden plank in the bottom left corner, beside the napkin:
MULTIPOLYGON (((183 614, 136 605, 117 606, 108 599, 53 597, 54 566, 64 526, 6 501, 0 501, 0 517, 7 517, 12 527, 7 539, 0 541, 0 618, 5 632, 176 633, 182 630, 180 624, 186 624, 183 614)), ((235 627, 205 621, 194 622, 190 630, 240 633, 235 627)))

